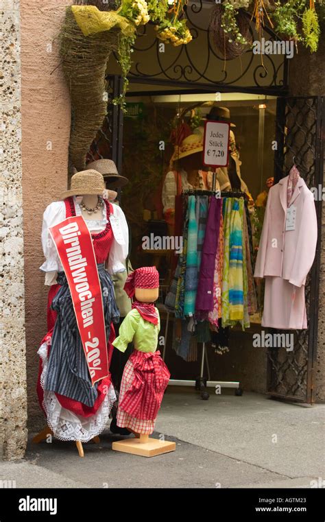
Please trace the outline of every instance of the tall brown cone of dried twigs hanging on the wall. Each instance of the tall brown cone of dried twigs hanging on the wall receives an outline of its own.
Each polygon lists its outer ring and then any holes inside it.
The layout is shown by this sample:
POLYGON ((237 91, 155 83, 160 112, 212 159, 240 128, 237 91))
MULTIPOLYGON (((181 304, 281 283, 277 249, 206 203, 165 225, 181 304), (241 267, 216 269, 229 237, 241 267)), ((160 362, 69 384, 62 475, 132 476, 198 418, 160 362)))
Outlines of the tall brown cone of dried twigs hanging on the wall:
POLYGON ((84 36, 71 8, 60 32, 60 56, 71 96, 69 160, 77 170, 101 128, 107 110, 105 73, 110 53, 117 49, 119 29, 84 36))

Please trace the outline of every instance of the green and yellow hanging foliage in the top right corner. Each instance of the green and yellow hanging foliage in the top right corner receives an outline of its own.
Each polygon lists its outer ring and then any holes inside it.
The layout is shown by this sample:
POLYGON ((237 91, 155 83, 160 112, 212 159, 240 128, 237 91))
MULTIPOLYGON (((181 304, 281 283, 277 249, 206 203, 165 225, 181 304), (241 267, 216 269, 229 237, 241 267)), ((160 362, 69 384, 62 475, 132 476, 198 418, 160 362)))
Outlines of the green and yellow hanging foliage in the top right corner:
MULTIPOLYGON (((223 0, 219 4, 221 22, 211 21, 215 43, 225 58, 238 56, 250 42, 243 34, 239 14, 246 12, 255 21, 260 38, 268 25, 282 39, 301 42, 311 52, 317 51, 320 39, 320 24, 317 10, 322 12, 324 0, 223 0), (317 8, 317 10, 316 10, 317 8), (224 40, 222 40, 222 38, 224 40), (229 52, 229 44, 235 43, 236 53, 229 52), (229 56, 234 54, 234 56, 229 56)), ((232 47, 234 47, 232 45, 232 47)))

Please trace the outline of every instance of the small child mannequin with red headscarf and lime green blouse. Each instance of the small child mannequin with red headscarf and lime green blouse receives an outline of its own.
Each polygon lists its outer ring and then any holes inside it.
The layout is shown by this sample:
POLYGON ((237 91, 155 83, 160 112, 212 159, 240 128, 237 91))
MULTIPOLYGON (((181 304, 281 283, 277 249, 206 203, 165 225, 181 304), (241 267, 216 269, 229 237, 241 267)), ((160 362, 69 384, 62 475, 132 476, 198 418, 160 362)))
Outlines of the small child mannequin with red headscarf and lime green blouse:
POLYGON ((151 457, 176 449, 175 442, 149 438, 170 377, 156 350, 160 330, 159 312, 154 305, 159 294, 156 267, 134 270, 126 279, 124 289, 128 296, 135 296, 135 300, 119 328, 119 337, 112 344, 124 352, 133 341, 134 351, 123 371, 117 426, 129 429, 136 438, 113 442, 112 449, 151 457))

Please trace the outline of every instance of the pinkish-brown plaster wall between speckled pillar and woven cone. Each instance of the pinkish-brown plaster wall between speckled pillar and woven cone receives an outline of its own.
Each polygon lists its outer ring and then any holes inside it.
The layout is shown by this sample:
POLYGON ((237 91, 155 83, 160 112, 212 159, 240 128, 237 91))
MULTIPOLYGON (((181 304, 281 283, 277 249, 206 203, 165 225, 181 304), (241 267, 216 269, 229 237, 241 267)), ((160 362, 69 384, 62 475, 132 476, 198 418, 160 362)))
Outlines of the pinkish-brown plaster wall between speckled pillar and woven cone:
POLYGON ((40 243, 43 211, 67 188, 70 99, 60 67, 58 34, 67 0, 21 0, 21 104, 25 318, 29 427, 44 416, 36 396, 37 350, 47 331, 49 287, 40 243))

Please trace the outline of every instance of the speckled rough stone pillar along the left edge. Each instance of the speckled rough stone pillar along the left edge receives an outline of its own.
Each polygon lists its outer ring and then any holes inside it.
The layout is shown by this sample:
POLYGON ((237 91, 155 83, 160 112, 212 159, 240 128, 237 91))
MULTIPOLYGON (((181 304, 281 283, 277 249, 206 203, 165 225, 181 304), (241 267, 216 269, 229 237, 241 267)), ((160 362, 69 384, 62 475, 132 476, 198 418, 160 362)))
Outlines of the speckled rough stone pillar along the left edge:
POLYGON ((19 0, 4 0, 1 15, 0 458, 13 460, 27 441, 19 0))

